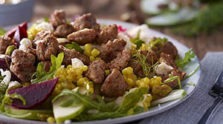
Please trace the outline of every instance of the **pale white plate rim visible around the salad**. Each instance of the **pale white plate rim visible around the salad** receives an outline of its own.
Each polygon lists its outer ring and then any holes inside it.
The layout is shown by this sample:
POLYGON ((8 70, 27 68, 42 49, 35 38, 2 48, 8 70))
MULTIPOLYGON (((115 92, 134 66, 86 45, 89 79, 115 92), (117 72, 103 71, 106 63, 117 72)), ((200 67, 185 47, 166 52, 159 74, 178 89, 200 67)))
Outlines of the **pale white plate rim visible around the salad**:
MULTIPOLYGON (((120 22, 120 21, 114 21, 114 20, 98 20, 98 22, 101 23, 101 24, 117 24, 117 25, 123 26, 126 29, 131 29, 131 28, 134 28, 134 27, 137 26, 135 24, 125 23, 125 22, 120 22)), ((171 38, 167 35, 164 35, 160 32, 154 31, 152 29, 148 30, 148 32, 150 33, 150 35, 153 34, 154 36, 157 36, 157 37, 167 38, 169 41, 171 41, 177 47, 180 56, 183 56, 184 53, 189 50, 189 48, 187 48, 183 44, 179 43, 178 41, 174 40, 173 38, 171 38)), ((199 60, 196 57, 195 59, 193 59, 193 61, 190 63, 190 65, 187 67, 187 69, 184 70, 184 71, 186 71, 187 73, 190 73, 198 66, 199 66, 199 60)), ((183 99, 161 104, 159 106, 150 108, 147 112, 139 113, 139 114, 136 114, 136 115, 120 117, 120 118, 115 118, 115 119, 105 119, 105 120, 88 121, 88 122, 75 122, 75 124, 76 123, 77 124, 83 124, 83 123, 84 124, 125 123, 125 122, 139 120, 139 119, 143 119, 143 118, 146 118, 146 117, 149 117, 149 116, 159 114, 161 112, 164 112, 168 109, 171 109, 171 108, 175 107, 176 105, 182 103, 187 98, 189 98, 192 95, 192 93, 194 92, 194 90, 196 89, 196 87, 198 86, 198 81, 199 81, 199 78, 200 78, 200 74, 201 74, 201 70, 198 69, 198 71, 196 71, 196 73, 193 76, 191 76, 190 78, 188 78, 187 80, 184 80, 182 82, 183 89, 185 89, 185 91, 187 92, 187 95, 183 99), (191 83, 193 85, 191 85, 191 83)), ((46 123, 46 122, 39 122, 39 121, 15 119, 15 118, 6 117, 4 115, 0 115, 0 122, 2 122, 2 121, 7 122, 7 123, 16 123, 16 124, 18 124, 18 123, 22 123, 22 124, 44 124, 44 123, 46 123)))

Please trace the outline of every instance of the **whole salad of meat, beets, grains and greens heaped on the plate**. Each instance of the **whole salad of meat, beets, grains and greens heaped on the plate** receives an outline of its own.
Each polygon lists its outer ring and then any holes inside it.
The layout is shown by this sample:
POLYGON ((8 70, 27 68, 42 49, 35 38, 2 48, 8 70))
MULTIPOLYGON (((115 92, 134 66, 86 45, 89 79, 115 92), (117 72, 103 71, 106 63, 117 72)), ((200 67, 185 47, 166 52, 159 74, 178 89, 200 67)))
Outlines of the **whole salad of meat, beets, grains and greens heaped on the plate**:
POLYGON ((63 123, 129 116, 181 99, 184 57, 146 25, 101 25, 63 10, 0 37, 0 113, 63 123))

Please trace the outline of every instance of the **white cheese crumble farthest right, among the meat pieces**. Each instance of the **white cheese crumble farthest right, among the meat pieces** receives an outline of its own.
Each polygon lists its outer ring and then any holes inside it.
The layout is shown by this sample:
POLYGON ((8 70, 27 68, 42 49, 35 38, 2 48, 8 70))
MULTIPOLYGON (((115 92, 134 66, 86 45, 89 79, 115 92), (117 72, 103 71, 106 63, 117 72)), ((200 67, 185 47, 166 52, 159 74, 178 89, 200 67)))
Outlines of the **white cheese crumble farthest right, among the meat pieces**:
POLYGON ((166 75, 173 69, 172 66, 167 65, 164 62, 161 62, 159 65, 155 67, 156 74, 166 75))

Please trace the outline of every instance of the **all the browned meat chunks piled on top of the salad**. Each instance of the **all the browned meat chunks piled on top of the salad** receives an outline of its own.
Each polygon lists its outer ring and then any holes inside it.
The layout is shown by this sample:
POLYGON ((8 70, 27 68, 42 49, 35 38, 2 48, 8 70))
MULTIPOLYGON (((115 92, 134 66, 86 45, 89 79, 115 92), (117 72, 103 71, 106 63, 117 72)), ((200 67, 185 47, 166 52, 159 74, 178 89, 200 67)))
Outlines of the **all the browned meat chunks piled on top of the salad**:
MULTIPOLYGON (((128 90, 128 84, 121 74, 121 70, 125 67, 131 66, 137 76, 144 76, 142 67, 132 61, 133 56, 130 50, 125 49, 126 41, 118 37, 117 25, 102 27, 90 13, 79 16, 68 23, 65 12, 62 10, 56 10, 51 15, 50 23, 53 26, 53 32, 39 32, 31 41, 32 45, 28 49, 15 49, 11 54, 10 71, 19 78, 20 82, 30 82, 39 62, 44 63, 46 71, 49 70, 50 56, 60 52, 64 52, 64 65, 70 65, 72 58, 78 58, 88 65, 85 76, 95 84, 99 84, 100 92, 108 97, 121 96, 128 90), (57 40, 58 38, 66 38, 67 41, 61 43, 57 40), (94 44, 95 48, 100 51, 100 59, 91 62, 85 54, 64 47, 65 44, 73 41, 79 45, 94 44), (105 70, 108 69, 110 74, 106 76, 105 70)), ((4 54, 6 48, 12 44, 13 40, 7 35, 1 37, 0 54, 4 54)), ((168 73, 160 74, 164 79, 170 73, 183 78, 184 73, 179 71, 174 63, 177 49, 172 43, 167 42, 158 50, 141 51, 140 53, 147 57, 148 63, 159 61, 173 67, 168 73)), ((176 82, 173 82, 171 87, 177 87, 176 82)))

